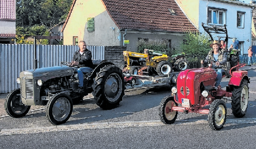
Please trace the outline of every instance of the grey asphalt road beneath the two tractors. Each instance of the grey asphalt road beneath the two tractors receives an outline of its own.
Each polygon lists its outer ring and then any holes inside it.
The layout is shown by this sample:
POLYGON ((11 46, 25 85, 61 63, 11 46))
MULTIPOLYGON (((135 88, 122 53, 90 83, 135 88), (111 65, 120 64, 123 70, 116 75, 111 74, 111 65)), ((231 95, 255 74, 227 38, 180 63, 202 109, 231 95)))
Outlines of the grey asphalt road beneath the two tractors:
MULTIPOLYGON (((170 86, 127 91, 120 106, 103 110, 90 97, 75 105, 71 118, 51 125, 44 109, 22 118, 0 118, 0 149, 255 149, 256 71, 250 70, 247 113, 235 118, 227 103, 224 128, 214 131, 206 114, 179 113, 173 125, 159 121, 158 105, 170 86)), ((223 78, 221 85, 228 84, 223 78)))

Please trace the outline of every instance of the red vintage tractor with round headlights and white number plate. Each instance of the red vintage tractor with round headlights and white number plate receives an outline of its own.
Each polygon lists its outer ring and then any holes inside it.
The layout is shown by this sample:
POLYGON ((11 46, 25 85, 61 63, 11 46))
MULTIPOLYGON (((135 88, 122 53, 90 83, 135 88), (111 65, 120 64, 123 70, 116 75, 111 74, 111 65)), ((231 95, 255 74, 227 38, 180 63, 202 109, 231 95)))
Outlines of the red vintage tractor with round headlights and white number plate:
POLYGON ((238 70, 244 65, 238 64, 231 68, 236 71, 230 72, 232 77, 226 90, 221 89, 220 85, 218 88, 213 87, 216 72, 211 67, 180 72, 177 77, 177 87, 172 87, 171 96, 164 97, 160 103, 160 120, 164 124, 172 124, 177 118, 178 111, 208 114, 210 128, 219 130, 223 128, 227 118, 227 107, 223 101, 227 97, 231 97, 234 116, 243 117, 248 106, 248 83, 250 83, 248 72, 238 70), (203 108, 209 105, 209 109, 203 108))

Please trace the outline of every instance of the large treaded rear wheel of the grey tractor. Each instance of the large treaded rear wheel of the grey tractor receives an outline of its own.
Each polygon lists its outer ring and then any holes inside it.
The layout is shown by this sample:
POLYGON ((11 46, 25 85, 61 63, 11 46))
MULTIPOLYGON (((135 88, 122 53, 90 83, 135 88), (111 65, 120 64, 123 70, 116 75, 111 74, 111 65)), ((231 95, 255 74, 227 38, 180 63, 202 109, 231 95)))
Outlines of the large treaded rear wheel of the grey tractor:
POLYGON ((118 106, 125 94, 122 70, 114 65, 101 68, 94 79, 93 96, 96 104, 103 109, 118 106))

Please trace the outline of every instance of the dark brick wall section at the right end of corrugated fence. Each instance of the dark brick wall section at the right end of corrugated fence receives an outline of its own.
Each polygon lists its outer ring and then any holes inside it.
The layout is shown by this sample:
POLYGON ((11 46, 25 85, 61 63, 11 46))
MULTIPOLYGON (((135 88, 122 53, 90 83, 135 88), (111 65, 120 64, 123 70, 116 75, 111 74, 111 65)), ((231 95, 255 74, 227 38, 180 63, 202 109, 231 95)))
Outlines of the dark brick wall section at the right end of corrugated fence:
POLYGON ((123 51, 126 51, 126 46, 105 46, 105 60, 119 67, 125 64, 123 51))

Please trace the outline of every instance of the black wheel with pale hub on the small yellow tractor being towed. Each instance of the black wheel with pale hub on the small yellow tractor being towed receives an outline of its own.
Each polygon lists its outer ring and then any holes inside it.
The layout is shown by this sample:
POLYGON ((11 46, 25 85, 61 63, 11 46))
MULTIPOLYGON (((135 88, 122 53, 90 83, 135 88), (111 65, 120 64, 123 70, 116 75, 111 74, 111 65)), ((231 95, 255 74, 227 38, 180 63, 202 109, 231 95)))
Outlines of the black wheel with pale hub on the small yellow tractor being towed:
POLYGON ((156 66, 156 72, 158 75, 167 75, 172 72, 172 65, 169 61, 161 61, 156 66))

